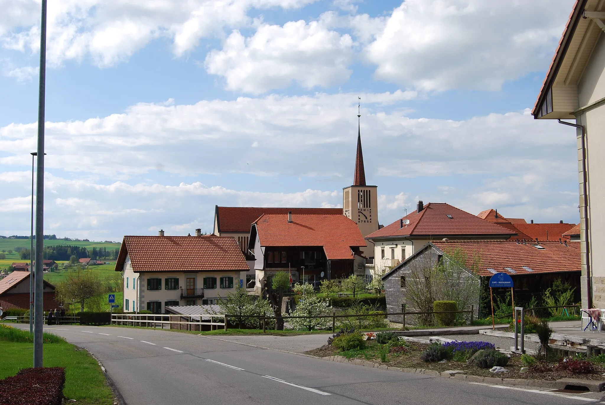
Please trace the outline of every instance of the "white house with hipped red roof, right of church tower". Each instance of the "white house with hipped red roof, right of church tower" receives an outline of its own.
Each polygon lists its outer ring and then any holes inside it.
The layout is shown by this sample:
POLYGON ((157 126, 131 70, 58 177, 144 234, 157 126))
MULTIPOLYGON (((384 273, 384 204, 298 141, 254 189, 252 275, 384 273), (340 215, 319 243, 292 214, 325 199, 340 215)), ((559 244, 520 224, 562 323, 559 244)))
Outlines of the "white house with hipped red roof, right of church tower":
POLYGON ((381 277, 431 240, 506 240, 517 232, 447 203, 423 204, 416 211, 378 229, 365 239, 374 243, 372 277, 381 277))

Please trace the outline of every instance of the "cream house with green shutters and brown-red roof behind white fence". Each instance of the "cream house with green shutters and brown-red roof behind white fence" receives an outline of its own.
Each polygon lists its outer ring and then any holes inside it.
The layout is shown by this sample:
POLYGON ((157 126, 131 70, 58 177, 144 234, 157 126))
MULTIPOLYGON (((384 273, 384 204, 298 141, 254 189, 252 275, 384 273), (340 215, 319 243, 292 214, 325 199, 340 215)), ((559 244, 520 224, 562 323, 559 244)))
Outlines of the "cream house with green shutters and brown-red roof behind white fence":
POLYGON ((125 236, 116 262, 125 312, 165 312, 166 306, 207 305, 243 286, 252 262, 233 237, 125 236))

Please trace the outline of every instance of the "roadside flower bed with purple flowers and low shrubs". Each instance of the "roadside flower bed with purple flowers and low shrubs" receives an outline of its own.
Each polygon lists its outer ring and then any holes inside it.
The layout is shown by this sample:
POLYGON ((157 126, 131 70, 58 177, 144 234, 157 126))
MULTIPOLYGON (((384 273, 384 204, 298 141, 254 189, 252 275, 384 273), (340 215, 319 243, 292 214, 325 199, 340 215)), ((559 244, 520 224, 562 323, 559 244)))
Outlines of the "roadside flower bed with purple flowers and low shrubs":
MULTIPOLYGON (((430 357, 434 362, 423 361, 423 354, 428 351, 431 345, 405 342, 396 343, 390 341, 387 344, 380 344, 375 340, 365 341, 363 347, 349 350, 339 350, 329 344, 325 344, 318 349, 306 352, 306 354, 318 357, 332 355, 341 355, 346 358, 356 358, 361 360, 373 361, 374 363, 385 364, 386 366, 401 367, 407 369, 430 369, 439 372, 446 370, 463 370, 468 375, 478 375, 481 377, 500 377, 500 378, 518 378, 523 380, 549 380, 555 381, 560 378, 584 378, 589 380, 602 380, 605 372, 605 355, 594 358, 560 358, 551 355, 548 362, 538 361, 529 355, 522 356, 511 354, 511 357, 505 360, 505 369, 507 372, 494 374, 488 368, 480 368, 476 364, 469 364, 467 360, 479 351, 493 351, 494 345, 488 342, 460 342, 454 341, 443 345, 433 344, 435 357, 430 357), (440 346, 439 347, 437 347, 440 346), (529 364, 531 363, 531 364, 529 364), (528 367, 528 370, 522 372, 522 367, 528 367)), ((506 356, 503 355, 502 356, 506 356)), ((427 358, 427 356, 424 356, 427 358)), ((502 359, 500 355, 496 355, 502 359)), ((495 361, 499 361, 495 359, 495 361)), ((502 361, 502 360, 500 360, 502 361)), ((479 362, 486 365, 488 362, 479 362)), ((502 363, 500 363, 502 364, 502 363)), ((499 363, 494 365, 498 366, 499 363)))

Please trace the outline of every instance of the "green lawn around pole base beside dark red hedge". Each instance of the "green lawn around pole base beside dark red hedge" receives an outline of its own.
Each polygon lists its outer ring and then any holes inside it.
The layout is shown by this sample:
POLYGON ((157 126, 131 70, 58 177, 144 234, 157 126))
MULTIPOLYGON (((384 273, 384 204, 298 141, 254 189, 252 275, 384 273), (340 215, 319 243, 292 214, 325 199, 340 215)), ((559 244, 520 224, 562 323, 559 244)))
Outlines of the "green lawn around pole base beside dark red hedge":
MULTIPOLYGON (((33 364, 33 344, 0 341, 0 378, 33 364)), ((80 405, 111 405, 113 392, 105 375, 87 351, 70 343, 44 344, 44 367, 65 367, 64 395, 80 405)))

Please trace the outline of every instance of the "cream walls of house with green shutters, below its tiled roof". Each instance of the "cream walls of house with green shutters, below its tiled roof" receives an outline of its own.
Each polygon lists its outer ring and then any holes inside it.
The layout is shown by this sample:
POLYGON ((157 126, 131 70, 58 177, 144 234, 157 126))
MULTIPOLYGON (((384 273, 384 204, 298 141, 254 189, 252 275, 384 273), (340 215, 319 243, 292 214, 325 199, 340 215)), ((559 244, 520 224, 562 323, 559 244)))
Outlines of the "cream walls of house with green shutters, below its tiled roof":
MULTIPOLYGON (((245 274, 245 272, 244 272, 245 274)), ((124 312, 140 312, 148 309, 148 303, 159 303, 161 312, 165 312, 166 303, 169 305, 206 305, 215 304, 219 297, 225 297, 229 292, 234 292, 235 287, 240 285, 239 271, 203 271, 203 272, 174 272, 174 271, 148 271, 134 272, 130 257, 126 260, 122 269, 124 277, 124 312), (215 277, 216 288, 204 288, 204 277, 215 277), (231 288, 221 287, 221 277, 232 277, 231 288), (160 279, 159 289, 148 289, 149 278, 160 279), (166 289, 166 278, 176 278, 177 282, 171 282, 177 288, 166 289), (189 283, 189 284, 188 284, 189 283), (193 297, 198 289, 203 288, 203 298, 193 297), (185 297, 181 298, 181 290, 185 297), (189 290, 189 291, 187 291, 189 290), (195 290, 195 291, 192 291, 195 290)), ((154 282, 157 284, 157 282, 154 282)), ((214 286, 212 286, 214 287, 214 286)), ((158 304, 154 304, 158 305, 158 304)))

